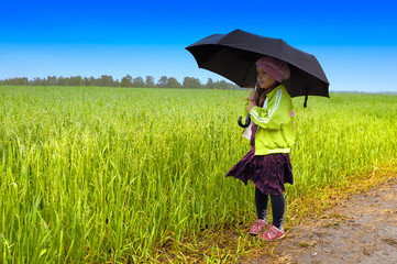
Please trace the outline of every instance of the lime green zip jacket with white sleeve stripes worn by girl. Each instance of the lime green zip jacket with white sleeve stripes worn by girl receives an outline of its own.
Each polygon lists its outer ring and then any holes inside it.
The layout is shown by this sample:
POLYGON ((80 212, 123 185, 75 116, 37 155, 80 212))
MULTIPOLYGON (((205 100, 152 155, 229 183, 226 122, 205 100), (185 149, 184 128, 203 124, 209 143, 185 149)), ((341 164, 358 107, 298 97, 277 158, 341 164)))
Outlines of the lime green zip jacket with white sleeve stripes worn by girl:
POLYGON ((251 121, 258 125, 255 155, 289 153, 295 142, 294 106, 283 85, 267 94, 263 107, 253 107, 251 121))

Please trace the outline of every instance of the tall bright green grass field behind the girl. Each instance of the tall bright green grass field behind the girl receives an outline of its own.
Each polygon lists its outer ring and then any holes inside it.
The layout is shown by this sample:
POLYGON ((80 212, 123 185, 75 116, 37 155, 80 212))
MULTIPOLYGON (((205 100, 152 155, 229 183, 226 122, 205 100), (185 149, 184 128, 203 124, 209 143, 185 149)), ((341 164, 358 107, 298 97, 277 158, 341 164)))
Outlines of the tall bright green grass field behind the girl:
MULTIPOLYGON (((236 123, 246 96, 0 87, 0 262, 183 262, 187 239, 255 220, 253 185, 224 177, 250 148, 236 123)), ((397 96, 294 103, 286 224, 310 197, 390 166, 397 151, 397 96)), ((211 246, 202 260, 217 262, 211 246)))

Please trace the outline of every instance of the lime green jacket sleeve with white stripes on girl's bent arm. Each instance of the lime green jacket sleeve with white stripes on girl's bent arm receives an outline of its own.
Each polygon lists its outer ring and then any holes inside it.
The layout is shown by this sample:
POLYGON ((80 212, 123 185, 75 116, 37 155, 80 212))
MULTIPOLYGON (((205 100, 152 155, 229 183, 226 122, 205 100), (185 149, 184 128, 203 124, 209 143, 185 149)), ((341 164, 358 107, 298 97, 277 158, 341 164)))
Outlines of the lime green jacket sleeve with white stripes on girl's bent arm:
POLYGON ((285 89, 278 89, 267 99, 267 109, 261 107, 251 109, 251 120, 263 129, 280 130, 290 121, 291 99, 285 89))

